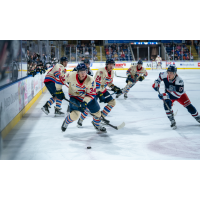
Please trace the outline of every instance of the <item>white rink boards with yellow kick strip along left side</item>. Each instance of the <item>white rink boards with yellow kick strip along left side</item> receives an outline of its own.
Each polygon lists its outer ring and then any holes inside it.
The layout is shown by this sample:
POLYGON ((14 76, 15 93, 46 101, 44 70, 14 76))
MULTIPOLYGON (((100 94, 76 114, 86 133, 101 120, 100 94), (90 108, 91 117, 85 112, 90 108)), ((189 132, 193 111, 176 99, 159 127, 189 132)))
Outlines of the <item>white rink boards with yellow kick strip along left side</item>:
POLYGON ((0 132, 4 138, 42 94, 45 74, 26 77, 0 90, 0 132))

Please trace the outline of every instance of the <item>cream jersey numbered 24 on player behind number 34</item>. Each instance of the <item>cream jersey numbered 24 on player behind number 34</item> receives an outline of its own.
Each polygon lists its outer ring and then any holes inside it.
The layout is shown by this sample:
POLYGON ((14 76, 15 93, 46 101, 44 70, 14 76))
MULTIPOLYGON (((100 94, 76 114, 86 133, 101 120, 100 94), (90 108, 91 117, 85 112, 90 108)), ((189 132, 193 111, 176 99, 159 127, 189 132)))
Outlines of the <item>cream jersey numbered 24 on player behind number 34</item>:
POLYGON ((106 87, 107 86, 110 87, 112 85, 113 78, 114 78, 113 70, 111 70, 111 72, 108 73, 106 67, 100 68, 94 76, 97 92, 105 93, 107 91, 106 87))

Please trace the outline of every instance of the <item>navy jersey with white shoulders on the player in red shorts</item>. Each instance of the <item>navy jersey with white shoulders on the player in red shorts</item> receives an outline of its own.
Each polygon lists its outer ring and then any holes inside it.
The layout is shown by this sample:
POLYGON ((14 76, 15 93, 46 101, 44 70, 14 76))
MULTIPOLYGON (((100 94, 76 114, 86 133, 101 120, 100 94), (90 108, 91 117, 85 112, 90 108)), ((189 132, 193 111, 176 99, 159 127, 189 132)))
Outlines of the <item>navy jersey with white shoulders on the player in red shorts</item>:
POLYGON ((173 80, 169 80, 167 72, 161 72, 156 81, 164 82, 165 92, 169 94, 170 99, 179 99, 185 93, 183 79, 178 75, 173 80))

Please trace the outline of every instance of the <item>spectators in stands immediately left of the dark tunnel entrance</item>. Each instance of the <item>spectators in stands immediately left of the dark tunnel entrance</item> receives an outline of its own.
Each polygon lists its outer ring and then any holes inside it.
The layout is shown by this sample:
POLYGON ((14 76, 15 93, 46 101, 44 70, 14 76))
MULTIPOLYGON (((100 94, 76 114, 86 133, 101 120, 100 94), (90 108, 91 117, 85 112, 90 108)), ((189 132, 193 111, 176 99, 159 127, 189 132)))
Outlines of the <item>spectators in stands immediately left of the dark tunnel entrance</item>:
POLYGON ((132 55, 127 44, 105 45, 106 59, 112 58, 115 61, 132 60, 132 55))

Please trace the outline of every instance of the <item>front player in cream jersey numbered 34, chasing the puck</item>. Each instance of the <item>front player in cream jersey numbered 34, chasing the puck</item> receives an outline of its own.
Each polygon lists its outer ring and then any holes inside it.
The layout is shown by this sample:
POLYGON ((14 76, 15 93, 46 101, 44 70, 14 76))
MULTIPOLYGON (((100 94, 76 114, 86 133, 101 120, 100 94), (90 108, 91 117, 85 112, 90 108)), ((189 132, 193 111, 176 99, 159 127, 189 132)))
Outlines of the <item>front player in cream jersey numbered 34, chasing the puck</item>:
MULTIPOLYGON (((69 83, 70 101, 79 107, 69 103, 70 114, 65 118, 61 130, 63 132, 66 131, 68 125, 77 120, 80 112, 84 112, 87 107, 93 115, 92 124, 95 129, 99 131, 106 131, 106 128, 101 126, 100 106, 95 99, 96 84, 94 78, 87 75, 86 65, 84 63, 78 64, 77 72, 68 72, 62 81, 63 83, 69 83)), ((61 85, 56 84, 56 93, 60 95, 61 99, 64 99, 65 96, 61 88, 61 85)))

